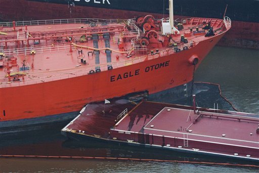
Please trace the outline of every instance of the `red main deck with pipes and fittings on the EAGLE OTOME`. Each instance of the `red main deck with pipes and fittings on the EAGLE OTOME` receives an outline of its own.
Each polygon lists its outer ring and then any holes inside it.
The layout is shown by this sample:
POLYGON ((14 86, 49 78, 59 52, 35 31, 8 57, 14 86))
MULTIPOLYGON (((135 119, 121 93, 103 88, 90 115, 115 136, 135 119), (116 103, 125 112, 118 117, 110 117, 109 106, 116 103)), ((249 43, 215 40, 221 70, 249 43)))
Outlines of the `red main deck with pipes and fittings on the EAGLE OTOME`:
MULTIPOLYGON (((175 43, 177 49, 185 50, 208 39, 201 29, 204 23, 210 22, 217 36, 230 28, 231 21, 226 21, 185 20, 184 28, 175 35, 170 46, 140 45, 144 33, 134 20, 62 19, 16 22, 16 26, 4 22, 0 30, 0 87, 67 79, 88 75, 90 71, 107 71, 109 66, 118 68, 174 54, 176 49, 170 48, 175 43), (131 22, 126 26, 128 21, 131 22), (196 31, 190 32, 190 28, 197 28, 200 33, 194 34, 196 31), (182 35, 188 43, 181 42, 182 35), (122 45, 118 39, 123 40, 122 45)), ((157 37, 163 42, 165 36, 161 31, 152 31, 148 37, 157 37)))

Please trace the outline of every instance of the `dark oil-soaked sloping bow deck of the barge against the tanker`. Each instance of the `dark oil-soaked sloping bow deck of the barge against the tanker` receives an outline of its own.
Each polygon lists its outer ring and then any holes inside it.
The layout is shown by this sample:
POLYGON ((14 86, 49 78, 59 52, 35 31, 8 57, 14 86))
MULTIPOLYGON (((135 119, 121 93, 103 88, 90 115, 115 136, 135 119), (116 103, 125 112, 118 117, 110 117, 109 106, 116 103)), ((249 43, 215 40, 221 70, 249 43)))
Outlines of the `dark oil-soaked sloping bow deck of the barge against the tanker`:
POLYGON ((136 105, 124 99, 110 99, 111 104, 104 102, 90 103, 64 129, 79 134, 87 134, 109 139, 109 130, 114 125, 121 110, 133 109, 136 105), (80 131, 79 131, 80 130, 80 131), (83 133, 81 133, 83 132, 83 133))

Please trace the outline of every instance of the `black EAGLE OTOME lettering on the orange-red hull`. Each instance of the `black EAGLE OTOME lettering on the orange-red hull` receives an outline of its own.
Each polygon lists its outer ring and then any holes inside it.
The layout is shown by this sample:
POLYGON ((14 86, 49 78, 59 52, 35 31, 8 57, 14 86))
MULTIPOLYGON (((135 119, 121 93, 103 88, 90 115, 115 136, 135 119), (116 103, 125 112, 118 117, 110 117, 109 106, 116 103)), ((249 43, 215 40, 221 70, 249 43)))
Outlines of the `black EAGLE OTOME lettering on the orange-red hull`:
MULTIPOLYGON (((147 66, 145 68, 145 73, 152 72, 152 71, 158 70, 159 68, 168 66, 169 62, 170 61, 165 61, 165 62, 157 63, 155 65, 147 66)), ((137 69, 135 71, 130 71, 130 72, 125 72, 123 74, 114 75, 114 76, 111 76, 110 82, 119 81, 119 80, 126 79, 126 78, 131 78, 131 77, 140 75, 140 72, 141 72, 140 69, 137 69)))

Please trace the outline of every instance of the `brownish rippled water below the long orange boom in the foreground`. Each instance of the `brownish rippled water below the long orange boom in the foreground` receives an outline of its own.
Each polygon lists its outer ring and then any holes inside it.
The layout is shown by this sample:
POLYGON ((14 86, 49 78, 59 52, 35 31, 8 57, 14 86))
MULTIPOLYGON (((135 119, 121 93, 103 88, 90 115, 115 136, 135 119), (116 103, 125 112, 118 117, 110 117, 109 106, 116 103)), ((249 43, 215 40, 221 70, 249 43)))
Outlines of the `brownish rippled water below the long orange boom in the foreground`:
POLYGON ((2 164, 10 167, 3 172, 256 172, 243 167, 153 161, 4 159, 2 164))

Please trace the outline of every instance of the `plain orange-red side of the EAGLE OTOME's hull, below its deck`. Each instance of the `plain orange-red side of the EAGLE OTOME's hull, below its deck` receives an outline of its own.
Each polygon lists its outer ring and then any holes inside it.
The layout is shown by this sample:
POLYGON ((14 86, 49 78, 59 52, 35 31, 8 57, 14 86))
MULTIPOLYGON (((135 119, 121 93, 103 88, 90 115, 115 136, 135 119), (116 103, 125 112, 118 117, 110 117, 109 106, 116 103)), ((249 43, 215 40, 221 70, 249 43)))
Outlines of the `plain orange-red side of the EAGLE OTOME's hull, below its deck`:
POLYGON ((1 121, 75 112, 88 102, 139 91, 148 91, 152 94, 186 84, 192 81, 193 74, 193 65, 188 63, 188 59, 196 54, 202 61, 223 36, 224 33, 219 34, 177 54, 115 68, 112 71, 1 88, 1 93, 9 93, 1 94, 1 112, 5 111, 5 116, 1 113, 1 121), (151 70, 151 66, 164 62, 168 62, 168 66, 151 70), (150 67, 148 72, 146 72, 147 67, 150 67), (139 70, 139 75, 135 74, 136 70, 139 70), (116 79, 119 74, 124 73, 132 77, 116 79), (115 76, 113 82, 111 82, 112 76, 115 76))

